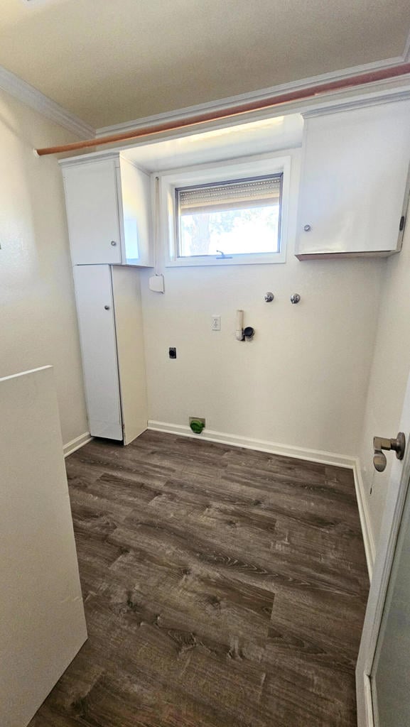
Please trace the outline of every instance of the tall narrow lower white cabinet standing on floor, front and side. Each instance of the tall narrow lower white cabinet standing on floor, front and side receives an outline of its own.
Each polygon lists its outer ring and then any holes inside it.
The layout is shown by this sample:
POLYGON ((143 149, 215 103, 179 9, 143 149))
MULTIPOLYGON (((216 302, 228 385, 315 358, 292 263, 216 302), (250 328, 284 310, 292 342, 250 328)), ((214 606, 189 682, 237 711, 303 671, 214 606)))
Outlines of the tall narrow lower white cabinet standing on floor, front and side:
POLYGON ((138 270, 75 265, 90 433, 130 443, 147 425, 138 270))

